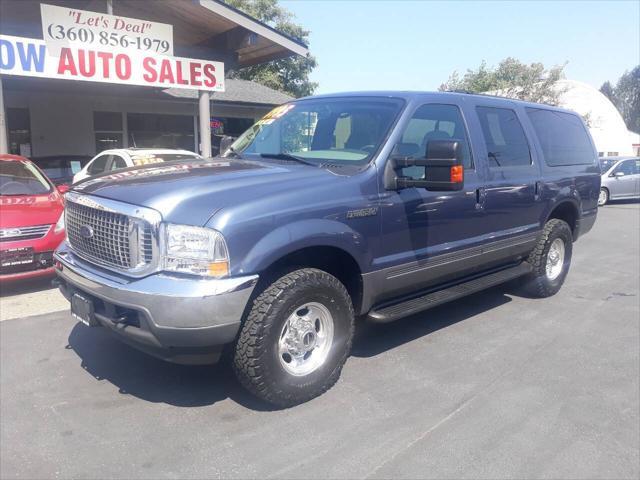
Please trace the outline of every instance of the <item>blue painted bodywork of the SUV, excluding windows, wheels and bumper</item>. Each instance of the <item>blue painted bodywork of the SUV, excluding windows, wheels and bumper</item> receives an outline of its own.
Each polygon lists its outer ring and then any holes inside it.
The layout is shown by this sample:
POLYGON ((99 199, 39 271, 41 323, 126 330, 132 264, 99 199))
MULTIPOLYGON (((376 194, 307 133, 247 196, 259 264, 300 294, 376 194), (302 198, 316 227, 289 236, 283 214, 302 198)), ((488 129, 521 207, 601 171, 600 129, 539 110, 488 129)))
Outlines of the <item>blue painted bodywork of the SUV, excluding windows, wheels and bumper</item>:
POLYGON ((360 313, 388 298, 526 258, 558 206, 568 204, 575 209, 574 236, 593 225, 600 189, 595 148, 591 164, 547 165, 525 107, 575 115, 573 112, 452 93, 366 92, 325 97, 352 96, 404 101, 384 145, 364 167, 320 168, 247 155, 131 168, 82 182, 74 190, 153 208, 166 222, 220 231, 228 244, 234 276, 260 274, 303 248, 343 250, 362 275, 360 313), (394 146, 416 109, 430 103, 460 109, 474 163, 465 171, 464 188, 453 192, 385 190, 384 171, 394 146), (527 137, 530 165, 489 165, 478 106, 516 113, 527 137), (348 215, 361 210, 368 213, 348 215))

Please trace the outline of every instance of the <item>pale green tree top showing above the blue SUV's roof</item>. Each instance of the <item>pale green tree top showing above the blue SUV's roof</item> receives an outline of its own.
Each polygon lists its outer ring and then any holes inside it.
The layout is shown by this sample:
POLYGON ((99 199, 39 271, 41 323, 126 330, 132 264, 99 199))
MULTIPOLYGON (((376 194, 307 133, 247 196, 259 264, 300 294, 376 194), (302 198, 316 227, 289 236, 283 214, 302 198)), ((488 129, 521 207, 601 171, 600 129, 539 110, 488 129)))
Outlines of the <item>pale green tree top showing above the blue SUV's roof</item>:
POLYGON ((453 72, 439 90, 491 92, 503 97, 558 105, 563 91, 555 83, 564 78, 565 66, 566 63, 551 68, 545 68, 542 63, 527 65, 512 57, 505 58, 497 67, 489 67, 483 61, 477 69, 467 70, 462 77, 453 72))

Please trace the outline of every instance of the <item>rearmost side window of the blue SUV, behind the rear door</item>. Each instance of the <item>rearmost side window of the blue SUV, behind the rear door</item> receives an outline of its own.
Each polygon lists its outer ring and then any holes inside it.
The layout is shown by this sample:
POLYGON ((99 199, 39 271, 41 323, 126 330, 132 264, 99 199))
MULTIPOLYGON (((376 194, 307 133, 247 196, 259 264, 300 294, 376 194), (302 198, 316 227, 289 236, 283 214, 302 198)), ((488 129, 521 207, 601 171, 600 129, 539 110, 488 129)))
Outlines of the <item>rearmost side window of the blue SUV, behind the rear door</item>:
POLYGON ((547 165, 590 165, 595 154, 582 121, 570 113, 527 108, 547 165))

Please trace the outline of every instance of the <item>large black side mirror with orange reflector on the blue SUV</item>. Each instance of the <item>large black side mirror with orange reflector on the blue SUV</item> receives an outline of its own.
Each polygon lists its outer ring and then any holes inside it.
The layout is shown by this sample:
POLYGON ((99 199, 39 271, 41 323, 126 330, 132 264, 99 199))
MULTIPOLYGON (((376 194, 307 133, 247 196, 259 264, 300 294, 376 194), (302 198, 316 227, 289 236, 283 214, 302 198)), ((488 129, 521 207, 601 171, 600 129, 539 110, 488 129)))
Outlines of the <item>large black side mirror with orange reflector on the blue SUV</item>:
POLYGON ((426 188, 433 192, 462 190, 464 166, 462 145, 459 140, 430 140, 424 158, 393 156, 385 170, 385 188, 426 188), (424 180, 404 177, 400 170, 406 167, 425 167, 424 180))

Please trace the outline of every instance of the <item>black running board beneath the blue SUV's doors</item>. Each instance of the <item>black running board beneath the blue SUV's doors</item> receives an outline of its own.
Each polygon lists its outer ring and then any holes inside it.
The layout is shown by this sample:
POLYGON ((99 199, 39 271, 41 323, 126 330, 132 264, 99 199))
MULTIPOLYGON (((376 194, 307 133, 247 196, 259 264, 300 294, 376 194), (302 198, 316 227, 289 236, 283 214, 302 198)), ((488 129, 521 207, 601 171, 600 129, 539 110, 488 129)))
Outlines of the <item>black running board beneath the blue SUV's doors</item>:
POLYGON ((376 323, 393 322, 394 320, 428 310, 443 303, 450 302, 451 300, 479 292, 495 285, 500 285, 501 283, 526 275, 529 272, 531 272, 531 265, 527 262, 522 262, 515 267, 509 267, 482 277, 476 277, 464 283, 427 293, 421 297, 414 297, 410 300, 391 305, 381 305, 371 310, 367 314, 367 318, 376 323))

